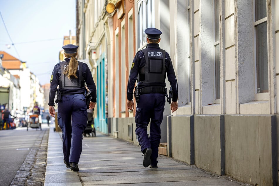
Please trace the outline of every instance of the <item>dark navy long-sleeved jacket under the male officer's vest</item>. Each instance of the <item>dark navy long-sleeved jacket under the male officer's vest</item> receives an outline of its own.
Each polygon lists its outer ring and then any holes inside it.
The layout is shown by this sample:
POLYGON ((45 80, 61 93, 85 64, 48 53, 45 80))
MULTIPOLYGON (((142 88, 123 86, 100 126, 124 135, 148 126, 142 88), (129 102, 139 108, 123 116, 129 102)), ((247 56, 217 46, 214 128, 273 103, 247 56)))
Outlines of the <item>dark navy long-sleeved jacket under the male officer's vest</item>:
MULTIPOLYGON (((159 50, 159 44, 158 43, 149 43, 146 46, 147 48, 152 48, 152 50, 159 50)), ((138 77, 138 73, 140 72, 140 69, 143 68, 146 64, 146 59, 144 52, 142 50, 138 51, 133 59, 131 71, 130 71, 130 76, 128 80, 128 85, 127 85, 127 99, 132 100, 133 99, 133 89, 135 87, 135 83, 138 77)), ((175 72, 173 70, 173 64, 170 59, 170 55, 166 52, 165 55, 165 68, 166 68, 166 73, 168 76, 168 81, 170 82, 170 86, 173 89, 173 102, 177 101, 178 98, 178 86, 177 86, 177 80, 175 77, 175 72)), ((160 83, 145 83, 145 82, 138 82, 138 87, 150 87, 150 86, 160 86, 160 87, 166 87, 165 82, 160 82, 160 83)))

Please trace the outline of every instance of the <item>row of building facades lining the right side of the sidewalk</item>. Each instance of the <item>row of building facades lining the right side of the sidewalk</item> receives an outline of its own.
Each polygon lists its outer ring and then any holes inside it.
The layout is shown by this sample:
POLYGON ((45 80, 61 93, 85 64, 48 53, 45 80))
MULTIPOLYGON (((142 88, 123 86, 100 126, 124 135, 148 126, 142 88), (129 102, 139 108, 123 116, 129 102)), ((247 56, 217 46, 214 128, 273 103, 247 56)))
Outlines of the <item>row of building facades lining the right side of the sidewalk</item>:
POLYGON ((126 83, 133 56, 146 47, 144 30, 155 27, 179 84, 179 108, 171 114, 166 104, 161 125, 167 155, 241 182, 278 185, 279 1, 88 0, 80 9, 90 3, 99 13, 79 15, 85 30, 93 24, 79 37, 93 43, 85 55, 95 52, 96 65, 105 52, 107 78, 92 71, 97 100, 107 80, 102 132, 138 144, 126 83), (108 3, 112 13, 100 9, 108 3))

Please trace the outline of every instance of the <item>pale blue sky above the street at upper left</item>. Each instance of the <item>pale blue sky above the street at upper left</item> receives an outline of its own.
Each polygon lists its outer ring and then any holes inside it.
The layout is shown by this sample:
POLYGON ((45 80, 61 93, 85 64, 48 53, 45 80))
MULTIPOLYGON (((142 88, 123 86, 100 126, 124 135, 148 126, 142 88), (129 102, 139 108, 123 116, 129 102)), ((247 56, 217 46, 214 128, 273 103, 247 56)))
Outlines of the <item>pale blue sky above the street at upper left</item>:
POLYGON ((49 83, 64 36, 76 34, 76 0, 0 0, 0 12, 0 51, 49 83))

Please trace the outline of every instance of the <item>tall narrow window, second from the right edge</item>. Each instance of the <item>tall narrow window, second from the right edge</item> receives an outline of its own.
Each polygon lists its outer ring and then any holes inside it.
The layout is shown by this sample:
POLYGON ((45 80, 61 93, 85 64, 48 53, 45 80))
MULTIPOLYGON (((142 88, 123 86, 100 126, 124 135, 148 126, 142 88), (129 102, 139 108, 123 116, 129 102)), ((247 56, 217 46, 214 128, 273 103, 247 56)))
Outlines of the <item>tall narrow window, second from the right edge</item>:
POLYGON ((220 34, 219 34, 219 0, 214 0, 214 37, 215 37, 215 103, 220 99, 220 34))

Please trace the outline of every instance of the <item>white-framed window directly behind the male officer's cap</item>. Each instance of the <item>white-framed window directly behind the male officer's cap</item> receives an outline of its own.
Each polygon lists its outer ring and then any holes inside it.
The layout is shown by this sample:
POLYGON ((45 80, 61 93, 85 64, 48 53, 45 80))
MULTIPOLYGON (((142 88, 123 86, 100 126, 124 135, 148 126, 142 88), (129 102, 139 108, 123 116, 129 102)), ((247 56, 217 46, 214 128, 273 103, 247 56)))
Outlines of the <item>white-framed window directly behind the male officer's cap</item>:
POLYGON ((152 0, 141 0, 137 3, 138 7, 138 50, 146 45, 146 36, 144 30, 149 27, 154 27, 154 3, 152 0))

